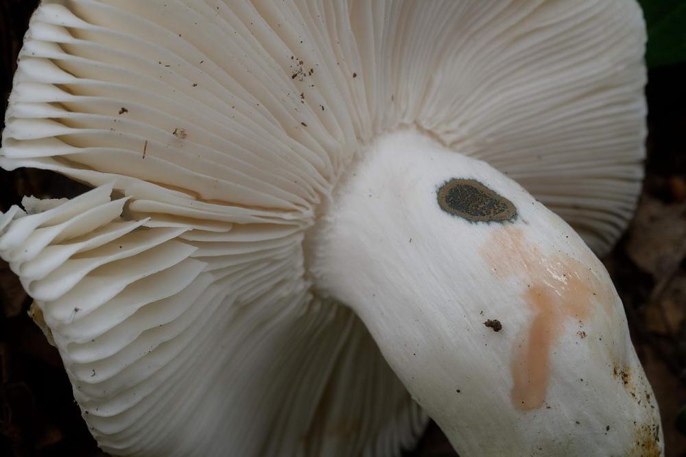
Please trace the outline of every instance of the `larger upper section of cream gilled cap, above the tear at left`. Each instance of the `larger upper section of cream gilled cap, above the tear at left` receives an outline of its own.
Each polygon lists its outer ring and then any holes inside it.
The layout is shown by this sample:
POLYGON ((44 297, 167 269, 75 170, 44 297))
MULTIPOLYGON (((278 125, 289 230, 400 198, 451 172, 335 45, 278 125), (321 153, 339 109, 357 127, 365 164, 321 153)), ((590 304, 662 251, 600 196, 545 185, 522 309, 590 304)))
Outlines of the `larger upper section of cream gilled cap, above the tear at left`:
POLYGON ((114 181, 140 213, 307 223, 361 143, 416 125, 602 254, 640 187, 645 40, 625 0, 44 1, 1 163, 114 181))

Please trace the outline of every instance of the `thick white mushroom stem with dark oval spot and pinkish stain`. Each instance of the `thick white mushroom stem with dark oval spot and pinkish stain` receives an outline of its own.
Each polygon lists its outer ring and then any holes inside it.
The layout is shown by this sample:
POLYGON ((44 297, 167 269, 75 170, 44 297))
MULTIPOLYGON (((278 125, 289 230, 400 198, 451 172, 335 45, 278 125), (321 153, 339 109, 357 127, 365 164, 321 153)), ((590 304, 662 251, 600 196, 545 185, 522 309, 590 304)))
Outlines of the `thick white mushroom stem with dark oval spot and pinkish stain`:
POLYGON ((344 179, 314 236, 318 290, 359 314, 461 455, 661 454, 622 303, 567 223, 414 130, 344 179))

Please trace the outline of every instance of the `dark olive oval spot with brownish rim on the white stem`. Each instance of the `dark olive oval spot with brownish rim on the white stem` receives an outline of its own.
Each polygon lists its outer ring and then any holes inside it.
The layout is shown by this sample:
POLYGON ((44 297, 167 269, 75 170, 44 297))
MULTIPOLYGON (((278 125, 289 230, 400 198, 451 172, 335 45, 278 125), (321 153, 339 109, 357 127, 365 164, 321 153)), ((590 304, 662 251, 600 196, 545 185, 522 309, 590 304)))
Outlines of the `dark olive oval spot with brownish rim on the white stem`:
POLYGON ((504 222, 517 218, 517 208, 504 196, 473 179, 453 178, 438 189, 438 206, 472 222, 504 222))

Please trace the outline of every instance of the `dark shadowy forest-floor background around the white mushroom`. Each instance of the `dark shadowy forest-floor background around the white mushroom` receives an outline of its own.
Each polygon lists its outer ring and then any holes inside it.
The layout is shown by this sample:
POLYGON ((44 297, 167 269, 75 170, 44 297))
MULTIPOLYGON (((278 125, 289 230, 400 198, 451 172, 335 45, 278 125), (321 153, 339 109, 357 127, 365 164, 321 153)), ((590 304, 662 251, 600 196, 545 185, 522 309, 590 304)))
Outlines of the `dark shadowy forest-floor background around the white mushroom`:
MULTIPOLYGON (((37 0, 0 0, 0 106, 37 0)), ((603 261, 659 402, 667 456, 686 456, 686 2, 643 2, 648 20, 648 160, 637 216, 603 261), (645 3, 650 3, 646 6, 645 3), (657 5, 657 6, 656 6, 657 5), (666 6, 665 6, 666 5, 666 6), (672 10, 669 10, 672 8, 672 10), (681 16, 674 9, 681 9, 681 16), (667 11, 669 10, 669 11, 667 11), (667 14, 671 13, 671 15, 667 14), (652 43, 657 43, 651 47, 652 43), (681 53, 681 54, 680 54, 681 53), (679 63, 681 62, 681 63, 679 63), (681 410, 681 413, 679 412, 681 410), (681 432, 679 431, 681 429, 681 432)), ((4 118, 4 116, 3 116, 4 118)), ((4 126, 0 121, 0 128, 4 126)), ((56 198, 83 188, 35 169, 0 170, 0 211, 24 195, 56 198)), ((105 456, 86 430, 62 362, 27 316, 31 301, 0 261, 0 456, 105 456)), ((456 456, 431 425, 410 456, 456 456)))

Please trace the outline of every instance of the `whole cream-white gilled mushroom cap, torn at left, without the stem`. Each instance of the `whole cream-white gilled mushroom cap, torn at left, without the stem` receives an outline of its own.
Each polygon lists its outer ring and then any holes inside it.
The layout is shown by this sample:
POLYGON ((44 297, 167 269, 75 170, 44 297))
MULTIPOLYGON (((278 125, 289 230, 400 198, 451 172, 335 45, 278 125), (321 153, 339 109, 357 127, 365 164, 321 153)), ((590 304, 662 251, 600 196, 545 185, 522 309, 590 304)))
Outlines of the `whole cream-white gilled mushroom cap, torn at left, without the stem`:
POLYGON ((46 0, 0 165, 96 189, 10 209, 0 253, 109 452, 394 452, 426 418, 310 292, 322 202, 415 126, 606 252, 641 183, 645 40, 623 0, 46 0))

